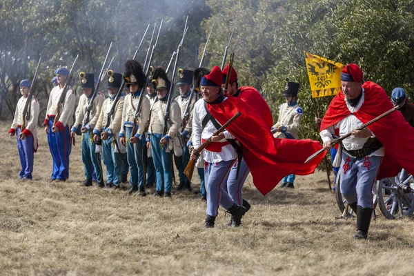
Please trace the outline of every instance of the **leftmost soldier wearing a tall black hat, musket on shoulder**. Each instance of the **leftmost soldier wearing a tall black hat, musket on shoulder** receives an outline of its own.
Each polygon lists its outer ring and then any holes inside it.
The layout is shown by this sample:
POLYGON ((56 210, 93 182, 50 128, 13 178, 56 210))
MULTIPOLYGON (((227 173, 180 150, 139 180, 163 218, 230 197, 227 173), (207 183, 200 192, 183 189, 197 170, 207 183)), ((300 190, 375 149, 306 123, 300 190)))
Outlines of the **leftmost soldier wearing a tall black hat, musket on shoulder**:
POLYGON ((85 74, 85 77, 81 77, 83 94, 79 97, 79 103, 76 110, 76 120, 75 124, 72 126, 70 135, 72 139, 75 139, 78 129, 81 128, 82 162, 83 170, 85 171, 85 181, 81 183, 81 186, 92 186, 92 174, 95 170, 95 173, 97 174, 97 186, 103 188, 101 150, 99 150, 101 141, 95 143, 92 131, 97 124, 105 97, 101 93, 97 92, 92 105, 90 105, 93 89, 95 87, 94 79, 94 74, 85 74), (90 109, 89 112, 88 108, 90 109))

